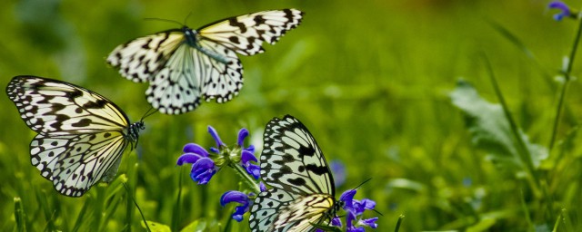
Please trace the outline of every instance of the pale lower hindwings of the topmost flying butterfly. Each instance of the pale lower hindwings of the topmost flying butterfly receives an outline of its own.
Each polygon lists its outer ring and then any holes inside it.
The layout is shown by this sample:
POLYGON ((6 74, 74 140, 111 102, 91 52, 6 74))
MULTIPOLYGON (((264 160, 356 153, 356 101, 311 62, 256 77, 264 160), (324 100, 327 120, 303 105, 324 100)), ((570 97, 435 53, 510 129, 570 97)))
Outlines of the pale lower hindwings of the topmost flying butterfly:
POLYGON ((243 86, 243 66, 236 53, 218 43, 201 44, 226 63, 187 43, 178 46, 146 91, 147 102, 154 108, 168 114, 185 113, 196 109, 202 97, 222 103, 238 93, 243 86))

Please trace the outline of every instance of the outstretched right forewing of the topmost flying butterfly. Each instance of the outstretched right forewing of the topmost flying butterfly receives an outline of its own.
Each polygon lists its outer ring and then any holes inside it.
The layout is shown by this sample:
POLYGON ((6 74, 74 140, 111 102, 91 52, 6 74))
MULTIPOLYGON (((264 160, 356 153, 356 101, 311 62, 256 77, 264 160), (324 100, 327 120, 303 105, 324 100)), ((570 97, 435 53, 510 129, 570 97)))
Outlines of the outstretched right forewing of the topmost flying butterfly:
POLYGON ((303 12, 296 9, 262 11, 227 18, 197 31, 201 41, 213 41, 236 53, 253 55, 265 52, 263 42, 275 44, 302 18, 303 12))

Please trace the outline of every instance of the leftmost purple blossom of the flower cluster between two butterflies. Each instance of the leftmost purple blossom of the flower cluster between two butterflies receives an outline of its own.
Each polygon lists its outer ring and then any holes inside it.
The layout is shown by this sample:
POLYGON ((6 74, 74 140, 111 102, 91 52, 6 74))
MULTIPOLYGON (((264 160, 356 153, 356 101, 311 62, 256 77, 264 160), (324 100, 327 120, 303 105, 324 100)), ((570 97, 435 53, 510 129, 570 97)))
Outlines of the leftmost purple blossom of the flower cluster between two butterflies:
POLYGON ((184 152, 178 158, 176 164, 179 166, 182 166, 184 163, 193 164, 192 170, 190 171, 190 178, 198 182, 199 185, 208 183, 218 170, 214 160, 208 158, 208 151, 198 144, 188 143, 184 146, 184 152))

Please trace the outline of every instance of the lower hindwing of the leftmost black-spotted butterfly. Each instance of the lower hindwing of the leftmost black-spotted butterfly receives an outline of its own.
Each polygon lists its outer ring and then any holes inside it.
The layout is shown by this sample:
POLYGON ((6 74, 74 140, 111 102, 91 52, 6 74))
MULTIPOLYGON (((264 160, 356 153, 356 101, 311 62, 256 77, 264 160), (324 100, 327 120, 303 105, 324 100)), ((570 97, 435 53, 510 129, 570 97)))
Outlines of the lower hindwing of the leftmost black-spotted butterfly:
MULTIPOLYGON (((81 197, 105 177, 127 147, 118 131, 61 136, 36 135, 31 163, 65 196, 81 197)), ((116 170, 113 170, 116 172, 116 170)))

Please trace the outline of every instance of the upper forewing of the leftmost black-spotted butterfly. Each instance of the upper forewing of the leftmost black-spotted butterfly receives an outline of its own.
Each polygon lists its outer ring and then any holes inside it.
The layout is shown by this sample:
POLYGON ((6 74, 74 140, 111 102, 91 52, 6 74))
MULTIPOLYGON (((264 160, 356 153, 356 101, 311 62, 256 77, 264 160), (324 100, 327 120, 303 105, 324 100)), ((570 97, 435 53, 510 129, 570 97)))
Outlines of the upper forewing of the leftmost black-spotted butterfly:
POLYGON ((47 80, 20 76, 6 87, 32 130, 66 135, 127 127, 125 114, 103 96, 67 82, 47 80))

